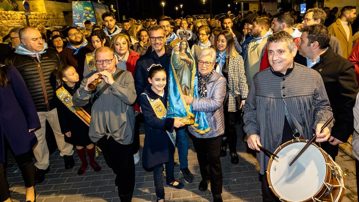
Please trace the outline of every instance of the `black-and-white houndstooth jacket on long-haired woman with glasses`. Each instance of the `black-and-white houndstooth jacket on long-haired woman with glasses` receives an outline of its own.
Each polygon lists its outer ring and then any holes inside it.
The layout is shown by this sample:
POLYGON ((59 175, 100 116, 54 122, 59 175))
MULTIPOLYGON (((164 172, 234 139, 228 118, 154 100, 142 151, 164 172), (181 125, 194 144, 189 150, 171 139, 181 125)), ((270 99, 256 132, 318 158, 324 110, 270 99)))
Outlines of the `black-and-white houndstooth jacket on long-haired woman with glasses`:
POLYGON ((228 111, 236 112, 236 97, 241 95, 242 100, 247 98, 248 85, 244 75, 244 62, 241 55, 229 58, 228 62, 228 111))

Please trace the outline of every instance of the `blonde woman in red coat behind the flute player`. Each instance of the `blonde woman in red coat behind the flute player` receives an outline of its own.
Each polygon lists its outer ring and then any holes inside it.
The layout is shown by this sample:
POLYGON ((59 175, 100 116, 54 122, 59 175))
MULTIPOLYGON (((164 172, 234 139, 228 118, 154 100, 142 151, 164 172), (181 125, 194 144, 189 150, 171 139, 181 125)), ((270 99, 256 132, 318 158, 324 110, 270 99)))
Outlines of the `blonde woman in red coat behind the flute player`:
MULTIPOLYGON (((140 54, 130 49, 130 38, 125 34, 117 34, 111 38, 110 48, 117 57, 117 63, 126 63, 126 71, 131 72, 132 77, 135 74, 135 66, 137 59, 140 58, 140 54)), ((118 65, 121 66, 121 65, 118 65)), ((134 160, 135 164, 140 161, 139 149, 140 149, 140 122, 144 121, 143 115, 140 113, 140 107, 137 102, 134 106, 135 110, 135 134, 134 134, 134 160)))

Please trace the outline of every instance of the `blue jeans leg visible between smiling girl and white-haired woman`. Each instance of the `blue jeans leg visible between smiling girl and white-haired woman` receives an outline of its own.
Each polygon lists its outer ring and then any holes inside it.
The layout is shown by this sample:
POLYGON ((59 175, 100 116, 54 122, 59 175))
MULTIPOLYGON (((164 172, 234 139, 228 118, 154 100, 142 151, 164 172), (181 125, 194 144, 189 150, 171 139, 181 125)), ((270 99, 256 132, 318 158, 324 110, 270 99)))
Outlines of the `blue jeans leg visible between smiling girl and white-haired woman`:
POLYGON ((188 167, 188 140, 186 135, 186 127, 176 129, 177 133, 177 150, 178 150, 178 159, 180 160, 180 168, 188 167))

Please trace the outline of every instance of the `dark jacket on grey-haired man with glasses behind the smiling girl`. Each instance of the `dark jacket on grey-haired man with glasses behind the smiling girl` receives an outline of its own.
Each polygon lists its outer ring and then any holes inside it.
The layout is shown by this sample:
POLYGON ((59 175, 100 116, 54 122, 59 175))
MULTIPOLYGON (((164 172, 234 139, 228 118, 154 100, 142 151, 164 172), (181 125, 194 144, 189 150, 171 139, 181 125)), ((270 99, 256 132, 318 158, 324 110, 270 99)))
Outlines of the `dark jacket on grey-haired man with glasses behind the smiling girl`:
MULTIPOLYGON (((160 64, 166 70, 167 81, 168 81, 168 69, 171 64, 171 55, 172 48, 164 45, 165 53, 161 57, 158 57, 155 51, 152 51, 152 47, 149 46, 146 53, 137 60, 135 66, 135 89, 137 94, 137 99, 140 97, 141 93, 144 92, 144 89, 148 84, 148 71, 147 69, 152 64, 160 64)), ((137 103, 138 100, 137 100, 137 103)), ((140 103, 139 103, 140 104, 140 103)))

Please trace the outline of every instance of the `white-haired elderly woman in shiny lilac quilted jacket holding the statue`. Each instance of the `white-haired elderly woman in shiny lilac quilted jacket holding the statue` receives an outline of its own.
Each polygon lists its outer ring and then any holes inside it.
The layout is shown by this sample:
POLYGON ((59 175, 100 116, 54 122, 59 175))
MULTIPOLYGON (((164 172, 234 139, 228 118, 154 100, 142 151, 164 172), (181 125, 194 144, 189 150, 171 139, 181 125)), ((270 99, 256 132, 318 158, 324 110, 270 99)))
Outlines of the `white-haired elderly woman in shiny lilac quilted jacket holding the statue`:
POLYGON ((200 164, 202 181, 198 189, 204 192, 211 183, 214 202, 222 202, 222 166, 220 148, 224 133, 223 100, 226 93, 227 81, 214 69, 216 52, 214 49, 203 49, 197 55, 198 61, 198 93, 199 98, 185 96, 187 104, 192 104, 194 111, 206 113, 210 130, 205 134, 195 132, 188 127, 192 134, 193 144, 200 164))

